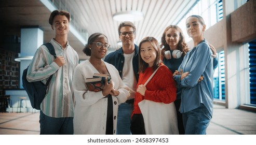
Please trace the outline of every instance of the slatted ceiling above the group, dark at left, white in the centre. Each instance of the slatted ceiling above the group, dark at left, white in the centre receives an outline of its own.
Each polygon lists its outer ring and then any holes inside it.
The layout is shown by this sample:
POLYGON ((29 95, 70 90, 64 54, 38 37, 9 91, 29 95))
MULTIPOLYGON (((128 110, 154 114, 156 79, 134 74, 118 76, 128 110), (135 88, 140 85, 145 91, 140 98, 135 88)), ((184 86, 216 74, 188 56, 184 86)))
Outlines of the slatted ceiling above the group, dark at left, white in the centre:
MULTIPOLYGON (((144 19, 133 22, 137 27, 136 41, 146 36, 160 40, 165 27, 177 24, 198 0, 51 0, 58 9, 65 9, 72 15, 71 23, 83 34, 86 41, 92 33, 100 32, 109 39, 109 52, 118 49, 118 25, 113 20, 116 12, 142 11, 144 19)), ((50 11, 40 0, 0 0, 0 19, 9 27, 39 25, 44 29, 44 41, 53 37, 48 24, 50 11)), ((17 33, 19 35, 19 33, 17 33)), ((88 59, 82 52, 84 44, 69 34, 71 46, 80 59, 88 59)))

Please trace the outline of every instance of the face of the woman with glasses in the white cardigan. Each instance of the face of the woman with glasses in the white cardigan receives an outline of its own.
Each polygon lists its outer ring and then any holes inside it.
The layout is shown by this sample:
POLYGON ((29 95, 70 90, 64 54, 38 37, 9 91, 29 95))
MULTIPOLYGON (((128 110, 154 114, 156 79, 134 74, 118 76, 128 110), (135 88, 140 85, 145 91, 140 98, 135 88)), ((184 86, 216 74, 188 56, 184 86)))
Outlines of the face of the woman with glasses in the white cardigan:
POLYGON ((107 38, 104 35, 99 35, 92 44, 88 45, 91 49, 91 57, 102 59, 107 52, 107 48, 104 46, 106 44, 108 44, 107 38), (97 46, 97 42, 101 42, 103 45, 99 47, 97 46))

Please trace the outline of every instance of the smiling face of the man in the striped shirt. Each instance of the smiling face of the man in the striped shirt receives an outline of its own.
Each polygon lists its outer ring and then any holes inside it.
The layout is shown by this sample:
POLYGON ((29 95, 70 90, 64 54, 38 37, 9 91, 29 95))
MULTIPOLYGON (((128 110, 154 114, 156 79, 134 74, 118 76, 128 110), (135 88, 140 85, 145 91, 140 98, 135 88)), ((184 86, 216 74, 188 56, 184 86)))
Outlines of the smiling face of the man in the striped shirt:
POLYGON ((66 16, 57 15, 53 19, 53 25, 51 25, 52 30, 58 35, 68 35, 69 33, 69 20, 66 16))

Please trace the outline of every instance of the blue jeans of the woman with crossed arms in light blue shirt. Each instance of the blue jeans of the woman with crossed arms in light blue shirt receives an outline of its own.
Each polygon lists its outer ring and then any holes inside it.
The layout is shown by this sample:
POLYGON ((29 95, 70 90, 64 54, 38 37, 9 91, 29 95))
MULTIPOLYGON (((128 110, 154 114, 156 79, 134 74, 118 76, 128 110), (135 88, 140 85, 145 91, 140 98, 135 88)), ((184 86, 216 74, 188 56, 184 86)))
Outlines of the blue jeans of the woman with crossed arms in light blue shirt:
POLYGON ((206 135, 206 129, 211 121, 211 114, 207 108, 200 107, 182 114, 185 135, 206 135))

